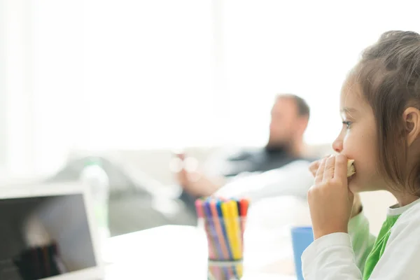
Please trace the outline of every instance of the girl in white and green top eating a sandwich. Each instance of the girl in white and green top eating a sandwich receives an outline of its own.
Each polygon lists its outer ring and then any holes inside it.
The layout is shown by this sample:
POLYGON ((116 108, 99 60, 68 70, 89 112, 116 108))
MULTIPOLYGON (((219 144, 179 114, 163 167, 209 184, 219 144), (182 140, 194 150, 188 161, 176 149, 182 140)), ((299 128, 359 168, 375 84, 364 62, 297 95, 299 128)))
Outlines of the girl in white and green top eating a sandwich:
POLYGON ((311 167, 315 240, 302 254, 304 279, 420 279, 420 35, 382 34, 350 72, 340 106, 338 155, 311 167), (357 195, 371 190, 398 200, 376 239, 357 195))

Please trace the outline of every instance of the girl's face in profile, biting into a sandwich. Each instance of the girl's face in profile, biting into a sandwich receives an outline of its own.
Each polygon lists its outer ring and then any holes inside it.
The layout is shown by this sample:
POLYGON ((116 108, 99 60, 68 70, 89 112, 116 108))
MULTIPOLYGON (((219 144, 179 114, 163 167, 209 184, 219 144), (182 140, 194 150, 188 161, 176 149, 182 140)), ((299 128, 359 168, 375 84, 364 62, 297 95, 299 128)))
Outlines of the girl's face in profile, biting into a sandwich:
POLYGON ((377 133, 373 111, 351 80, 342 87, 340 113, 342 130, 332 148, 354 160, 356 174, 349 179, 349 189, 353 193, 384 189, 385 183, 377 171, 377 133))

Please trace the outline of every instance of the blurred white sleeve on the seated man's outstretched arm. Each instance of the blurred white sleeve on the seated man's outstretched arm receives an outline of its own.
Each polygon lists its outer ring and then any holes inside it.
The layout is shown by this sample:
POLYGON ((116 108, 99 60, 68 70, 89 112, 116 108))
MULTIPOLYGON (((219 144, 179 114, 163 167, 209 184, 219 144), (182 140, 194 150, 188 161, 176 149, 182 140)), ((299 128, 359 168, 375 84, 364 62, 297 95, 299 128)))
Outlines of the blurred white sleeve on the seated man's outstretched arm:
POLYGON ((253 202, 281 195, 306 197, 314 183, 309 164, 307 161, 297 160, 278 169, 239 177, 223 186, 216 195, 248 197, 253 202))

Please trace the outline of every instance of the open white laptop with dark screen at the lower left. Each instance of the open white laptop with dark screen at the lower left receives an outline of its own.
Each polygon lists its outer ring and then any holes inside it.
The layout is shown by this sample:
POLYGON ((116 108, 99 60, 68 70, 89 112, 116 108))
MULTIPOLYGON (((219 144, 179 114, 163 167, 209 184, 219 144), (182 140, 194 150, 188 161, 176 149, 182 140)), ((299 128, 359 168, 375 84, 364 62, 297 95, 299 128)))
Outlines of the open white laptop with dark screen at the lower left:
POLYGON ((0 186, 0 279, 104 279, 89 188, 0 186))

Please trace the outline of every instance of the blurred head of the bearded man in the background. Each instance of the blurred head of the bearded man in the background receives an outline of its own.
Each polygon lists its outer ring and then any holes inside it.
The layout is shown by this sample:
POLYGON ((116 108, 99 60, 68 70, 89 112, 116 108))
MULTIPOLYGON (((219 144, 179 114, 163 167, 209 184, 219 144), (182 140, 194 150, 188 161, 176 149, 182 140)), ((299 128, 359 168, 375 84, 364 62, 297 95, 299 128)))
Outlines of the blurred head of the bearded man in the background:
POLYGON ((267 146, 298 146, 309 122, 309 106, 294 94, 279 94, 271 111, 267 146))

